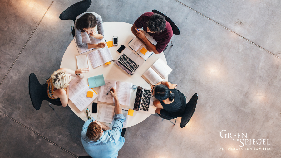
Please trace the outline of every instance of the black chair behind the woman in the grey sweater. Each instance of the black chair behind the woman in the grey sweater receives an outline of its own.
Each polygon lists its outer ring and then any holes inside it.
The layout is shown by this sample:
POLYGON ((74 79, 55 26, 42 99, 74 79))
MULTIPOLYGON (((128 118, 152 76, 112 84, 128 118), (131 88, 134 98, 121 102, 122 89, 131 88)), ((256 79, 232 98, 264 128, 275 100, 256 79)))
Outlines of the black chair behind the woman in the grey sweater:
MULTIPOLYGON (((90 7, 92 1, 91 0, 83 0, 73 4, 72 6, 68 7, 65 11, 63 11, 60 15, 61 20, 73 20, 75 23, 75 19, 78 15, 87 12, 88 8, 90 7)), ((73 24, 74 26, 74 24, 73 24)), ((75 29, 71 26, 72 36, 75 36, 75 29)))

